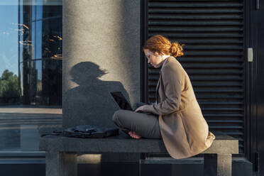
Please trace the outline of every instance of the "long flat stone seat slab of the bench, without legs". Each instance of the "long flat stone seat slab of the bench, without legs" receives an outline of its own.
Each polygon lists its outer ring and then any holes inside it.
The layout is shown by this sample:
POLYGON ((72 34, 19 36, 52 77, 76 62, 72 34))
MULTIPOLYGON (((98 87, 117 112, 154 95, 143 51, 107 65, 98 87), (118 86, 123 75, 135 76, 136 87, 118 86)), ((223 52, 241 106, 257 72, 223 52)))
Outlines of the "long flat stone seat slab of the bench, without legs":
MULTIPOLYGON (((133 139, 123 135, 110 138, 45 136, 40 139, 39 149, 84 153, 167 153, 160 139, 133 139)), ((203 153, 238 153, 238 140, 216 136, 211 147, 203 153)))

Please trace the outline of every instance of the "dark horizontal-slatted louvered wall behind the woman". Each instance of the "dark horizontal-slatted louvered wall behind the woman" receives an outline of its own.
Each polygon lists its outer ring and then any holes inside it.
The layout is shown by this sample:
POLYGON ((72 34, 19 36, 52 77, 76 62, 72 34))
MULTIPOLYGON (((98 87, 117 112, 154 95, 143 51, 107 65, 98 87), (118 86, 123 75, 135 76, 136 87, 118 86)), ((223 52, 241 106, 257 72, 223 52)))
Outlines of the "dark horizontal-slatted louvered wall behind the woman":
MULTIPOLYGON (((244 153, 243 1, 148 1, 147 38, 160 34, 185 44, 177 58, 187 71, 210 131, 238 138, 244 153)), ((148 101, 159 70, 148 65, 148 101)))

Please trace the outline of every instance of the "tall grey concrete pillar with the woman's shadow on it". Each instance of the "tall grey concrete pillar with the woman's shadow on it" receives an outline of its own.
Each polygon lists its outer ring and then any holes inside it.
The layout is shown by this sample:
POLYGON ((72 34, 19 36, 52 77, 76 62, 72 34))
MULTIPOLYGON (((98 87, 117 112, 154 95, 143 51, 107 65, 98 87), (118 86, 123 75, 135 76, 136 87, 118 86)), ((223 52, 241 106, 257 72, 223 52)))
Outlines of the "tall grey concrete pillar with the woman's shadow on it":
POLYGON ((63 1, 63 127, 115 126, 109 92, 140 100, 140 0, 63 1))

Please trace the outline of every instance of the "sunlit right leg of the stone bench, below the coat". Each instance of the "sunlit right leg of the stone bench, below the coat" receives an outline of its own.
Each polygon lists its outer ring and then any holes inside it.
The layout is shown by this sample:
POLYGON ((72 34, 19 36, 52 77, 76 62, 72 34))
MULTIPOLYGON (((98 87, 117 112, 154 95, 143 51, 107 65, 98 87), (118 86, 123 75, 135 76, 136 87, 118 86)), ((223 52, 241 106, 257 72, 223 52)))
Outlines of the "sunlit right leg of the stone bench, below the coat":
POLYGON ((204 176, 231 176, 232 154, 204 154, 204 176))

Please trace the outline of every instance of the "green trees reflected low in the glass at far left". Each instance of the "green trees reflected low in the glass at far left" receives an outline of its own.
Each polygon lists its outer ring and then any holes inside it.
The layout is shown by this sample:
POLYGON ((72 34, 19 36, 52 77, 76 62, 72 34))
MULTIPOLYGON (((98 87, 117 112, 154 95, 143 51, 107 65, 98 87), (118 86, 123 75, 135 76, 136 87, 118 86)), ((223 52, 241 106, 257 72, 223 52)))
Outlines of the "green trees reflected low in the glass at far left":
POLYGON ((0 97, 19 97, 20 89, 18 85, 18 76, 9 70, 4 70, 0 77, 0 97))

